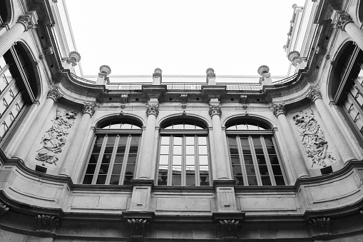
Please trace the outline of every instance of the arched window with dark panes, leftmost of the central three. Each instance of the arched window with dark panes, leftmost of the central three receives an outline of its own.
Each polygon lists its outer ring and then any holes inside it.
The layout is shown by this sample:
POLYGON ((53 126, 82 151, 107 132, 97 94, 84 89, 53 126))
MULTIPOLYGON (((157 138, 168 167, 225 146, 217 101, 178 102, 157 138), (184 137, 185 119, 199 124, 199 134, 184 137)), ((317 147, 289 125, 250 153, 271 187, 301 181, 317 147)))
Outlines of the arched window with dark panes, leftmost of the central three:
POLYGON ((95 132, 83 184, 131 185, 141 133, 140 123, 101 123, 95 132))

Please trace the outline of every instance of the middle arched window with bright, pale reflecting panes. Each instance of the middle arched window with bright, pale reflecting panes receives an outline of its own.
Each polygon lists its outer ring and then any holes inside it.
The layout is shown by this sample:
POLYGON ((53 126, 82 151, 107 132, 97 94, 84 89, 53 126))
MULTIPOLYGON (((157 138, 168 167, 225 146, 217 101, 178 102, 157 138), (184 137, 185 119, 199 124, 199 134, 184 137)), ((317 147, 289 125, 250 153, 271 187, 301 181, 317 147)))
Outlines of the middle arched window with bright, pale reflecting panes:
POLYGON ((195 121, 160 129, 158 185, 210 186, 208 129, 195 121))

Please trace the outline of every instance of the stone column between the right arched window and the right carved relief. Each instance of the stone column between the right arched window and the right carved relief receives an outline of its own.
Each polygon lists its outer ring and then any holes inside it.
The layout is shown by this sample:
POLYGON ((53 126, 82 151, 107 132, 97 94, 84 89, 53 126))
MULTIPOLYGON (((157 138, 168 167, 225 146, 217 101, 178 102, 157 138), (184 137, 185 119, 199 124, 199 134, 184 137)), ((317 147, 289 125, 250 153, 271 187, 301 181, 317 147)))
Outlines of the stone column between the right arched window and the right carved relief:
POLYGON ((285 143, 289 145, 289 148, 287 149, 287 158, 290 163, 292 163, 296 178, 308 177, 309 174, 307 173, 304 158, 300 152, 299 146, 297 146, 297 143, 295 142, 289 122, 286 119, 285 105, 275 104, 272 107, 272 112, 275 114, 277 121, 280 124, 279 129, 282 131, 282 135, 286 139, 285 143))

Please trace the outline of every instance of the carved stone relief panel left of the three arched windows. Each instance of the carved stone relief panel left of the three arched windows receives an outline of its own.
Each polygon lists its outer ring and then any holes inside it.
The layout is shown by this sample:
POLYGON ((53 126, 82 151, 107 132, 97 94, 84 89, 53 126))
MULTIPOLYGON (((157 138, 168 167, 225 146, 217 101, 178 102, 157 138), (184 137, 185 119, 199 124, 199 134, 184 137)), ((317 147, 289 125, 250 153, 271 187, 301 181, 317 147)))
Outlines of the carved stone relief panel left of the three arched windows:
POLYGON ((43 147, 36 151, 36 159, 44 163, 54 163, 58 161, 58 154, 62 152, 62 147, 66 144, 69 129, 76 119, 77 113, 66 110, 61 114, 59 109, 56 110, 56 117, 52 120, 51 128, 46 131, 41 138, 43 147))

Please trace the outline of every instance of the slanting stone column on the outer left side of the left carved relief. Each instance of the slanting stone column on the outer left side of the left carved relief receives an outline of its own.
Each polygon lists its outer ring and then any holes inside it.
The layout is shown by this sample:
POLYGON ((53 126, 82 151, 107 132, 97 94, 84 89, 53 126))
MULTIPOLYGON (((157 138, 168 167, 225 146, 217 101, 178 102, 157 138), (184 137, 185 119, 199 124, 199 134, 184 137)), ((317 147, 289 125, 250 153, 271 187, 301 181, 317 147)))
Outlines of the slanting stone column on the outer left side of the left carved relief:
POLYGON ((30 148, 34 144, 34 137, 36 137, 36 133, 41 130, 41 127, 46 121, 49 111, 51 111, 51 107, 60 97, 61 94, 59 94, 58 87, 52 88, 48 91, 46 101, 44 102, 43 106, 41 106, 38 114, 35 115, 35 118, 31 122, 31 126, 29 126, 28 131, 24 133, 24 137, 21 138, 21 141, 17 146, 18 148, 15 151, 13 157, 21 158, 22 160, 26 158, 30 148))

